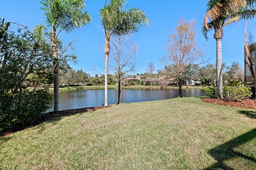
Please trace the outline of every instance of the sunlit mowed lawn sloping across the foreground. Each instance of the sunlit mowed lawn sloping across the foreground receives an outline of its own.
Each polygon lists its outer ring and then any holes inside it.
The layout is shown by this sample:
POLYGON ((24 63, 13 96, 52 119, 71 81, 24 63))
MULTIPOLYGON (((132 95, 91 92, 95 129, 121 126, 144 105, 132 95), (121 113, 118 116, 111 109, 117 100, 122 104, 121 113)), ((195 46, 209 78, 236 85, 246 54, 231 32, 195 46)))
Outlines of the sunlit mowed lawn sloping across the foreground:
POLYGON ((0 138, 0 169, 256 169, 256 111, 198 97, 112 105, 0 138))

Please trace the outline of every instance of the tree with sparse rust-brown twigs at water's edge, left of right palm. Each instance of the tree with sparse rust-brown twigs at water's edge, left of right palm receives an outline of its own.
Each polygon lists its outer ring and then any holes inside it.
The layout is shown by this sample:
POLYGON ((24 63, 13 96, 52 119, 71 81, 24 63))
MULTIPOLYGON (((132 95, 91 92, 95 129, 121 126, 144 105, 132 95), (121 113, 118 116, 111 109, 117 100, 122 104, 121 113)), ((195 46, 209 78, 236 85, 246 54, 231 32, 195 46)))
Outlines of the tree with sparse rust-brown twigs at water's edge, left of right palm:
POLYGON ((178 81, 178 97, 182 95, 182 79, 191 74, 195 65, 204 63, 204 49, 195 41, 195 20, 184 21, 182 18, 174 33, 168 38, 167 56, 162 59, 166 71, 178 81))

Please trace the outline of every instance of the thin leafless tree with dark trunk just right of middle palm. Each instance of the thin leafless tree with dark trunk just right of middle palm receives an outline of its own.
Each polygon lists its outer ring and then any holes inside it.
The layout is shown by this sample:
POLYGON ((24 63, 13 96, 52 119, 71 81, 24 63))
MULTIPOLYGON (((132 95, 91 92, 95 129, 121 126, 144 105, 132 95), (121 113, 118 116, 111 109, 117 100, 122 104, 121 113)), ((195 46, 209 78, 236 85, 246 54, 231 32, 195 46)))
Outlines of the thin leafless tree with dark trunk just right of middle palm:
POLYGON ((134 71, 136 63, 136 44, 130 42, 131 35, 117 35, 111 39, 112 51, 110 51, 109 69, 117 73, 117 79, 111 77, 118 82, 118 102, 121 103, 121 80, 123 75, 134 71))

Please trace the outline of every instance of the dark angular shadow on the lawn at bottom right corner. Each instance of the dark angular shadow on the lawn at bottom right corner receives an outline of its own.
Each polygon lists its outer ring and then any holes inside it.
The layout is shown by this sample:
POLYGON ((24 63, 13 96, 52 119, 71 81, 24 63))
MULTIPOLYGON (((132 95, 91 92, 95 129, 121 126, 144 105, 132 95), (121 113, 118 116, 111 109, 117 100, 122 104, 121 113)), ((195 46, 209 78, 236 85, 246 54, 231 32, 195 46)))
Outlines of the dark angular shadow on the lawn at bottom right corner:
POLYGON ((256 164, 256 159, 248 156, 246 154, 237 152, 234 150, 236 146, 239 146, 245 142, 248 142, 252 139, 256 138, 256 128, 253 130, 250 130, 247 133, 244 133, 220 146, 217 146, 209 151, 209 154, 217 161, 212 166, 206 168, 205 170, 211 170, 211 169, 224 169, 224 170, 234 170, 235 168, 232 168, 224 163, 226 160, 230 160, 235 157, 244 158, 249 162, 252 162, 252 164, 256 164))

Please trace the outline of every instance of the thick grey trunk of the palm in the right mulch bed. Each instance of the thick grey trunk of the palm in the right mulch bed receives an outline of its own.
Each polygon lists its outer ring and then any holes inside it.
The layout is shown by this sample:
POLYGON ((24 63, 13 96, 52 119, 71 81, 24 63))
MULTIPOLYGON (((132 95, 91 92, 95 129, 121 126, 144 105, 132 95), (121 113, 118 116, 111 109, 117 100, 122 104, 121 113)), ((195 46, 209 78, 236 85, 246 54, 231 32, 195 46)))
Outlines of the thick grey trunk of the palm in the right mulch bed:
POLYGON ((216 39, 216 71, 217 71, 217 99, 223 99, 222 94, 222 45, 221 38, 216 39))

